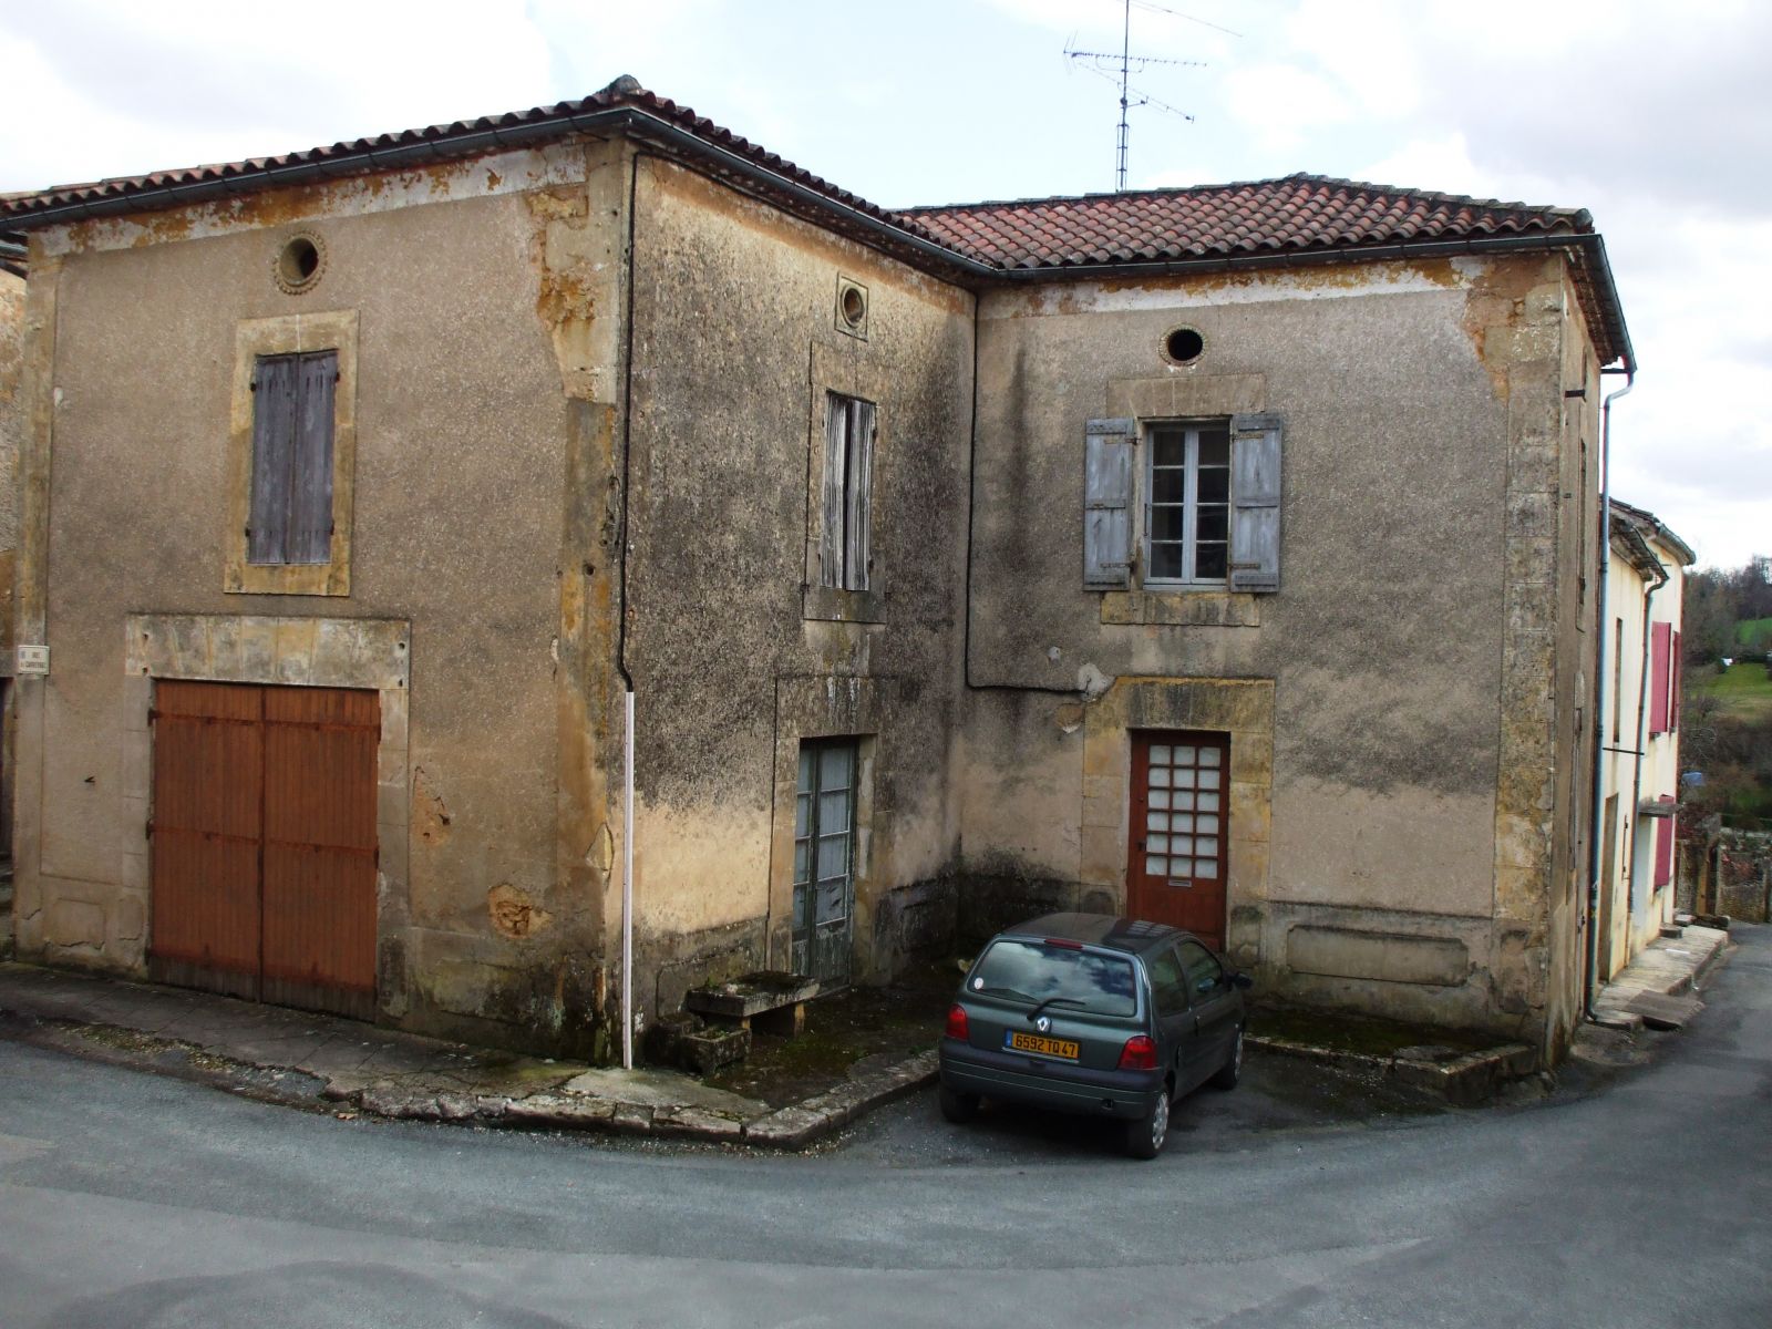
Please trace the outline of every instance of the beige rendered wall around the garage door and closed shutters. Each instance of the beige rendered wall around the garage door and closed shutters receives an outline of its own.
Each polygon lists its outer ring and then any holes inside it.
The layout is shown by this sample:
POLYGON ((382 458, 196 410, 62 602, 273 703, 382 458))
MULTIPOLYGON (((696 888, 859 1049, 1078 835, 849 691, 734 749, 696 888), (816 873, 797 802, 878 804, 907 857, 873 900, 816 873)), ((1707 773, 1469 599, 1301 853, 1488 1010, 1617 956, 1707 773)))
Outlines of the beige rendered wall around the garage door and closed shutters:
POLYGON ((19 627, 53 668, 21 689, 23 955, 144 971, 151 679, 346 682, 381 689, 379 1017, 608 1045, 624 161, 562 144, 34 234, 19 627), (287 294, 296 230, 324 268, 287 294), (236 335, 307 314, 356 328, 349 594, 229 594, 236 335))

